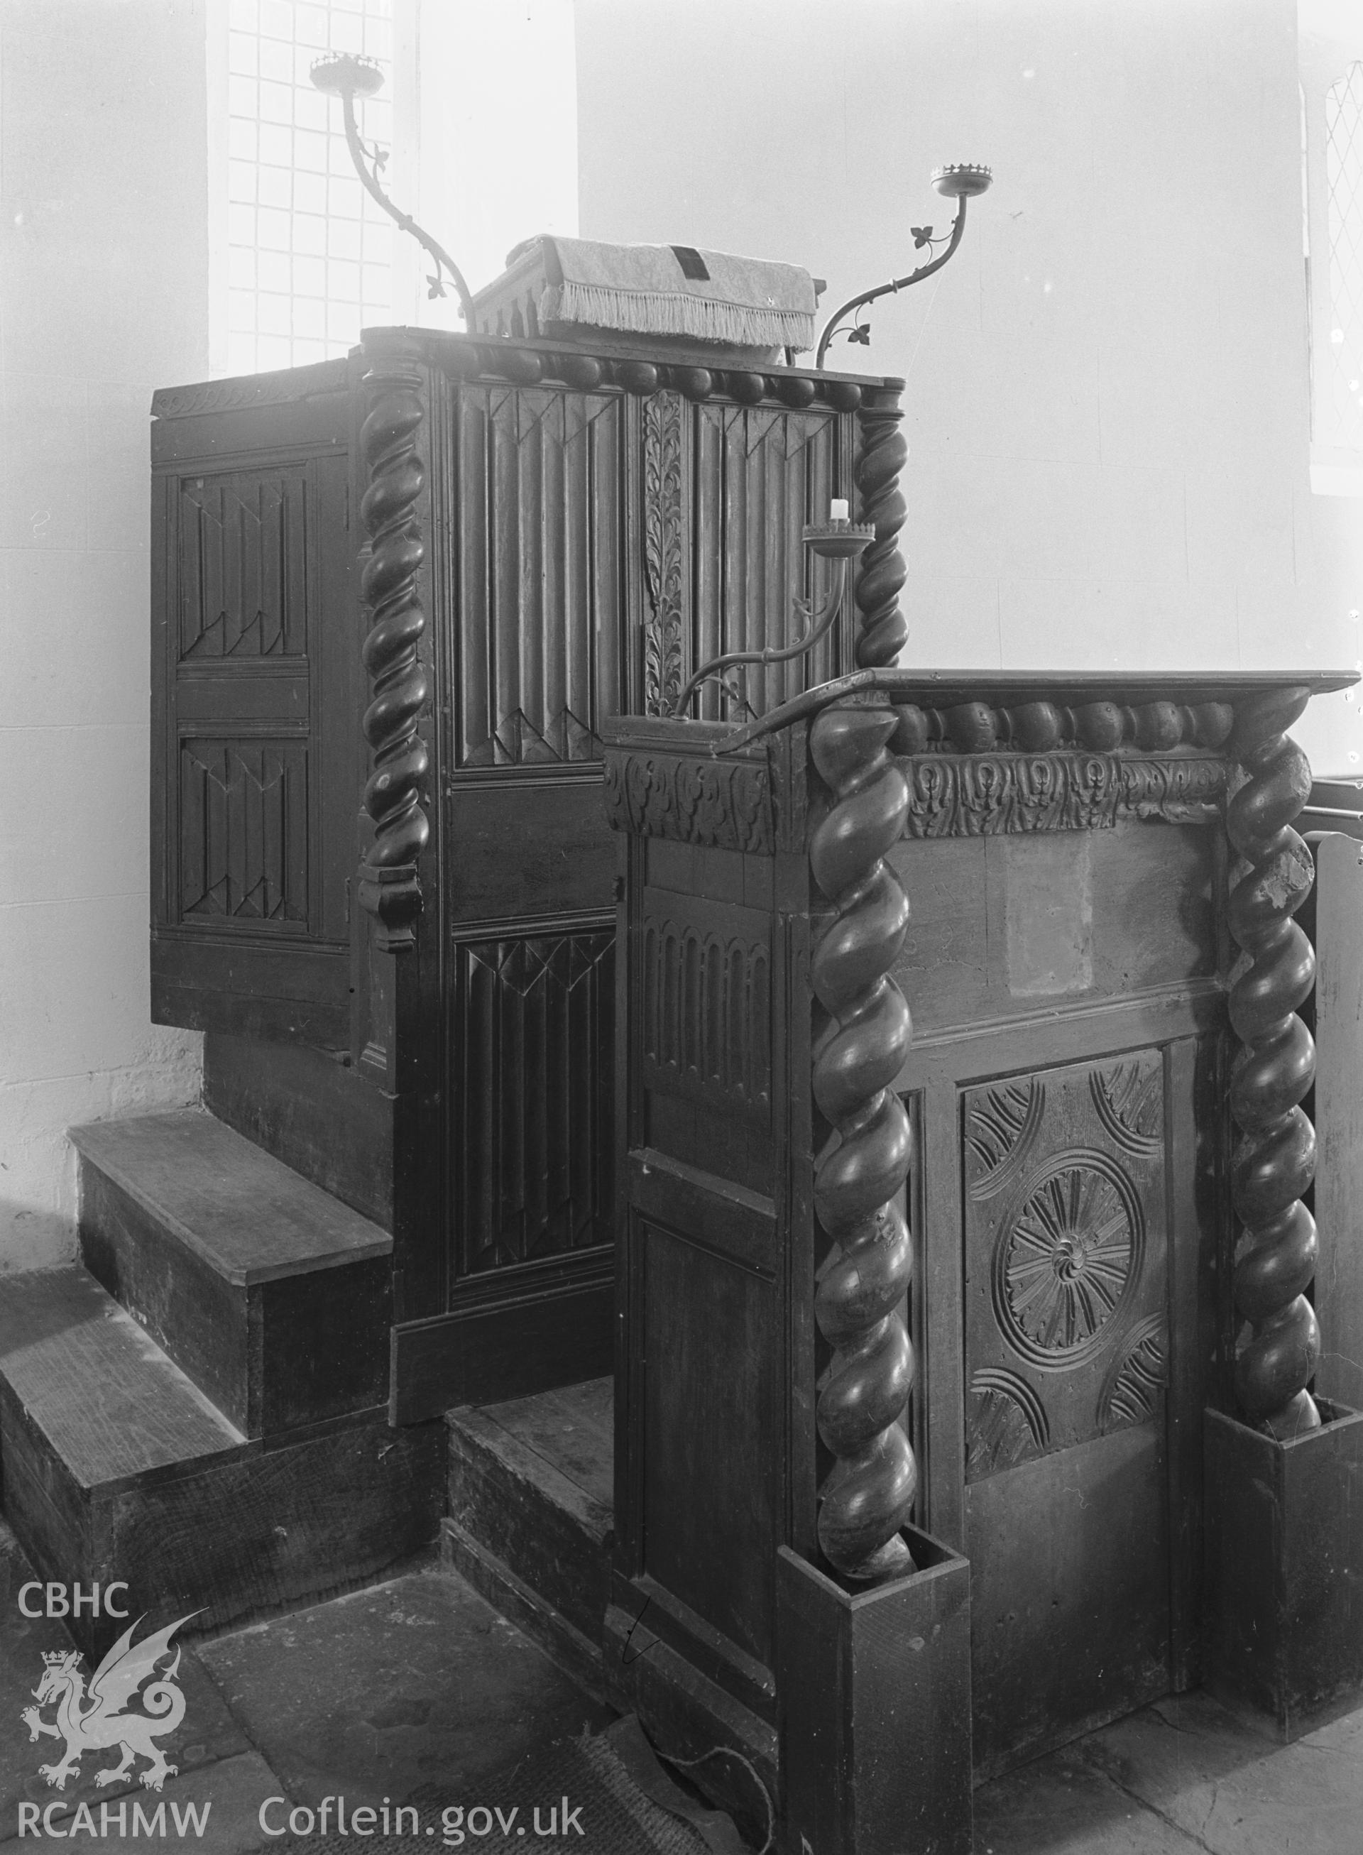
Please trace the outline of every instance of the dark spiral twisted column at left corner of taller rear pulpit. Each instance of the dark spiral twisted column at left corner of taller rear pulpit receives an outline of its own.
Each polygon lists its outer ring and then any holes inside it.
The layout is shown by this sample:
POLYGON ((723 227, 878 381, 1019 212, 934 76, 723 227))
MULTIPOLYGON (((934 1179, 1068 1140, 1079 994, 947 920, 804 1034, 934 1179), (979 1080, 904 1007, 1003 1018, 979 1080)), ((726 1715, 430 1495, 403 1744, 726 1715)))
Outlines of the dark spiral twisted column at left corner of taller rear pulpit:
POLYGON ((427 553, 415 516, 427 475, 415 445, 423 419, 421 375, 404 367, 401 356, 386 364, 380 354, 365 386, 371 390, 369 416, 360 445, 369 488, 360 514, 369 532, 369 558, 360 588, 371 608, 363 662, 373 699, 362 725, 373 751, 363 805, 375 822, 375 840, 360 866, 360 902, 375 916, 378 946, 402 953, 415 946, 417 857, 430 837, 421 805, 428 755, 419 733, 430 697, 421 662, 427 614, 417 590, 427 553))

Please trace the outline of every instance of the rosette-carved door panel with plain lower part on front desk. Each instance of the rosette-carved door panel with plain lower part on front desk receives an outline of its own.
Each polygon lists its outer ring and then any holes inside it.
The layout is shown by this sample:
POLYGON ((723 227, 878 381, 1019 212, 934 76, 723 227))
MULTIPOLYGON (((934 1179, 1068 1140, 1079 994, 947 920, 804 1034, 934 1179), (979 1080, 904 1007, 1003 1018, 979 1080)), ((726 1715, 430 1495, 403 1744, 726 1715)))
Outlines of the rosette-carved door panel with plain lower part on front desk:
POLYGON ((1168 1688, 1165 1057, 962 1091, 975 1764, 1168 1688))

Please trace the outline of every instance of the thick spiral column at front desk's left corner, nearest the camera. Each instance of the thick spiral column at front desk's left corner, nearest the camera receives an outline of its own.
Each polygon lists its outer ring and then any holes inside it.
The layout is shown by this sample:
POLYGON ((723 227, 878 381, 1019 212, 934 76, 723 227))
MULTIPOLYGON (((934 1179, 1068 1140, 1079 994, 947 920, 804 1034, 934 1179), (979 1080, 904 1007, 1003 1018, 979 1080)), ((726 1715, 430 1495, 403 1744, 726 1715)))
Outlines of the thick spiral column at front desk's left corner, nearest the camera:
POLYGON ((818 1430, 834 1458, 820 1488, 818 1540, 829 1564, 868 1582, 912 1567, 899 1529, 918 1482, 899 1428, 914 1373, 899 1319, 912 1243, 894 1198, 909 1176, 911 1132, 890 1085, 912 1028, 890 978, 909 902, 883 861, 909 811, 909 788, 886 751, 894 727, 890 709, 834 705, 810 729, 831 805, 810 831, 809 857, 834 909, 810 963, 827 1013, 812 1087, 838 1135, 814 1176, 814 1208, 831 1239, 814 1319, 833 1349, 820 1378, 818 1430))

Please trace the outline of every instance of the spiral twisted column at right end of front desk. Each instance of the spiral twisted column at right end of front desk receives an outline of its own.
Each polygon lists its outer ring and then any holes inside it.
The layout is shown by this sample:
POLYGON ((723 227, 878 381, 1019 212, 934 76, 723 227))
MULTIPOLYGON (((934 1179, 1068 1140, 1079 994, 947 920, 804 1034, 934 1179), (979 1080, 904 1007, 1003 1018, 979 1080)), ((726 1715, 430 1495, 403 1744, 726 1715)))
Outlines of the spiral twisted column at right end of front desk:
POLYGON ((1229 931, 1248 957, 1231 987, 1241 1050, 1229 1107, 1241 1139, 1231 1200, 1244 1230, 1231 1276, 1250 1337, 1235 1360, 1242 1414, 1276 1438, 1315 1430, 1306 1389, 1320 1334, 1306 1287, 1315 1274, 1315 1221, 1302 1193, 1315 1178, 1315 1128, 1300 1102, 1315 1076, 1315 1043, 1296 1007, 1315 983, 1315 953, 1293 916, 1311 892, 1311 851, 1293 820, 1311 790, 1306 755, 1283 733, 1309 690, 1255 696, 1237 709, 1231 751, 1246 774, 1226 807, 1226 835, 1250 864, 1231 887, 1229 931))

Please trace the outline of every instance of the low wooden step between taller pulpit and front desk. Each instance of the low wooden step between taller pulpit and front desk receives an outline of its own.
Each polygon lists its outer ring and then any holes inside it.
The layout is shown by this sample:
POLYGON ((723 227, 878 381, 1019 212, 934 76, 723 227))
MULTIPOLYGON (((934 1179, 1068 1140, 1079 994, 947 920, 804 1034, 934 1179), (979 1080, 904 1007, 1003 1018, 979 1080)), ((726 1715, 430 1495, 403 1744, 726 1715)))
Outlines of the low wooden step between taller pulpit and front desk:
POLYGON ((447 1562, 579 1679, 601 1681, 610 1378, 449 1412, 447 1562))

